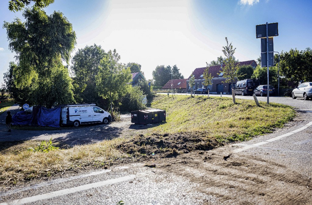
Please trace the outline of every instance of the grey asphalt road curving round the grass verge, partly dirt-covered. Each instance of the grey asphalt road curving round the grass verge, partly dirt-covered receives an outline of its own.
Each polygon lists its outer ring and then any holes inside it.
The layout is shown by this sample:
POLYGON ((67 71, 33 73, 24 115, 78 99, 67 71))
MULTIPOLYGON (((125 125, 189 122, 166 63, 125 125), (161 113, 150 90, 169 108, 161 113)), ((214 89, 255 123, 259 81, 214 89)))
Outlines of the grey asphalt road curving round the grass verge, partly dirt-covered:
POLYGON ((243 143, 176 158, 155 156, 146 162, 155 168, 134 163, 2 189, 0 205, 312 204, 312 100, 270 102, 294 106, 298 116, 283 129, 243 143))

